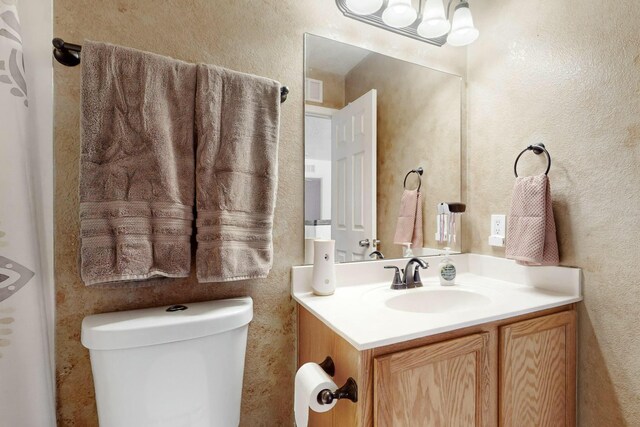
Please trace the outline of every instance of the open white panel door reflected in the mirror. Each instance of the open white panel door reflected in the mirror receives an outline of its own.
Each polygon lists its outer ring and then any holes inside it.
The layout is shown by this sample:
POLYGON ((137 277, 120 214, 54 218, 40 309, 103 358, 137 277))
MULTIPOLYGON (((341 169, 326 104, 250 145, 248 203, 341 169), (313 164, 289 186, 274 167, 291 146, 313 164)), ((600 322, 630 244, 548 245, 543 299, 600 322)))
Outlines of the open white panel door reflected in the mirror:
POLYGON ((331 128, 336 262, 359 261, 374 250, 376 238, 376 90, 334 113, 331 128))

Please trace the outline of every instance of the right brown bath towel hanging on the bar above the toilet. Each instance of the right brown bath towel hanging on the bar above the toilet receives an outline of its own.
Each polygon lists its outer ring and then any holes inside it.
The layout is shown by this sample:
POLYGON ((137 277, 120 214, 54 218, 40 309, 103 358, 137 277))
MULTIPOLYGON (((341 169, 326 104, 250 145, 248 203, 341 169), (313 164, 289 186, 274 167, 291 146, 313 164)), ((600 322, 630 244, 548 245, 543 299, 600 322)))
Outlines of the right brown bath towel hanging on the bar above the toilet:
POLYGON ((197 86, 198 280, 266 277, 273 255, 280 84, 198 65, 197 86))

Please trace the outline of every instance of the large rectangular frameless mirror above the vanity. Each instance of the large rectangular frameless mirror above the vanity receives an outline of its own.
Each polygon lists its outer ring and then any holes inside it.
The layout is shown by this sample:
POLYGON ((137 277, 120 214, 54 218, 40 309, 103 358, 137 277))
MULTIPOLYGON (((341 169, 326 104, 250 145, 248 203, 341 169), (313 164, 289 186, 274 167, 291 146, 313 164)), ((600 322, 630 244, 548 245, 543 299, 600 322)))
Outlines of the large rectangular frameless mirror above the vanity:
POLYGON ((436 234, 461 218, 437 207, 461 201, 461 90, 460 76, 305 35, 305 263, 313 239, 335 240, 336 262, 459 251, 459 232, 436 234))

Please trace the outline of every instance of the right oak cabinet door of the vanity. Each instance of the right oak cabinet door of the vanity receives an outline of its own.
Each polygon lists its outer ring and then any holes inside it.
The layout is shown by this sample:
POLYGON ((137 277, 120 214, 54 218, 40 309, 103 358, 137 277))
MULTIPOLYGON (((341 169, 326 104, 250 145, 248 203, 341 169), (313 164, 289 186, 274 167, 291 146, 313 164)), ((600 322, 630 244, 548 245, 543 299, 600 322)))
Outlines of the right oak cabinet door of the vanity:
POLYGON ((575 426, 575 311, 500 330, 500 425, 575 426))

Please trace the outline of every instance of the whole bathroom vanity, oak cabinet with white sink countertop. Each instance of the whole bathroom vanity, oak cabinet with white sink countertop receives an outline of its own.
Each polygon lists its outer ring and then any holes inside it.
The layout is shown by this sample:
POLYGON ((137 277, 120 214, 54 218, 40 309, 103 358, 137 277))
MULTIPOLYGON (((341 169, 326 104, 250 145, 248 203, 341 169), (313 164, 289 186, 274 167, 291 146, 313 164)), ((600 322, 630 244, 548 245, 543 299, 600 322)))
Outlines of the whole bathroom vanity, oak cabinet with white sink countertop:
POLYGON ((459 285, 438 285, 432 267, 408 290, 389 289, 383 270, 406 260, 337 265, 329 297, 309 292, 311 267, 294 267, 298 365, 330 355, 336 384, 359 389, 309 425, 575 425, 580 271, 455 261, 459 285))

